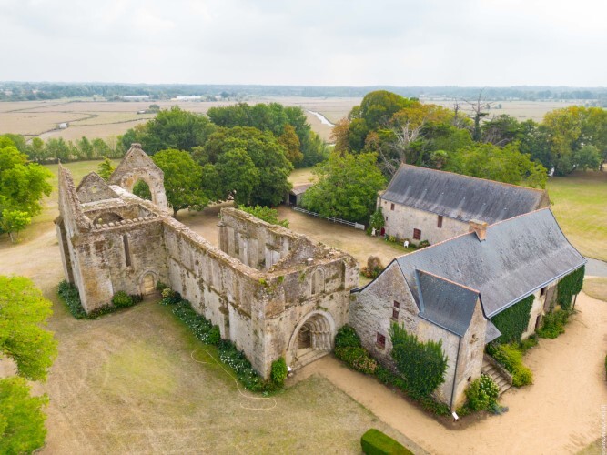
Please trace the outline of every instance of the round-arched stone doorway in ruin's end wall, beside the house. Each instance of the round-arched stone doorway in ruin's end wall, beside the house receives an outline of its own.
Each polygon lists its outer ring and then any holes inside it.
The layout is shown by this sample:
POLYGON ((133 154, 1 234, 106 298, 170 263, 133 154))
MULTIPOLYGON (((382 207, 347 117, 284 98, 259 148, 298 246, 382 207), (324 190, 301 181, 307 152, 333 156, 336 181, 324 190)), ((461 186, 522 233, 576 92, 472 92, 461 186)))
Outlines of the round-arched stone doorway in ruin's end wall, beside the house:
POLYGON ((298 369, 329 354, 333 348, 335 322, 326 311, 311 311, 301 319, 288 343, 288 365, 298 369))

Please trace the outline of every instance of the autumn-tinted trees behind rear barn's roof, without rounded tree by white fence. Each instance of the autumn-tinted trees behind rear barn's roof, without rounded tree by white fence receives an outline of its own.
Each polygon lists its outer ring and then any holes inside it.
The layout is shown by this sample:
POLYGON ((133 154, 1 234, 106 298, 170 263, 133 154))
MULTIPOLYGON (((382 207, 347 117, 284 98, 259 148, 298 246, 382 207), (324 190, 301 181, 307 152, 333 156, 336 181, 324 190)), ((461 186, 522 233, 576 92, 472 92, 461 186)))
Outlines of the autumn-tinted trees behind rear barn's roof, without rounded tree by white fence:
POLYGON ((401 162, 443 168, 531 187, 545 185, 546 169, 567 175, 596 169, 607 159, 607 111, 570 106, 538 124, 497 116, 481 123, 481 101, 472 119, 460 106, 447 109, 378 91, 365 96, 333 131, 339 153, 375 152, 391 176, 401 162))

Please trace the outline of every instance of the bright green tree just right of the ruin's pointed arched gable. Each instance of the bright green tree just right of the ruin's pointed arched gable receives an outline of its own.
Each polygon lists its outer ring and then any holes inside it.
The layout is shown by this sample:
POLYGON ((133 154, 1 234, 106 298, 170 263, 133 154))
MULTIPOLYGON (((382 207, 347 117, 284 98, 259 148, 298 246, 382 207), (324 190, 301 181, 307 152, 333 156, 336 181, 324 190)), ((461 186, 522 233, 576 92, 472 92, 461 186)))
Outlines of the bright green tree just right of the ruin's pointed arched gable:
POLYGON ((183 208, 201 210, 208 204, 202 190, 202 167, 186 151, 167 149, 152 157, 165 173, 165 192, 173 217, 183 208))

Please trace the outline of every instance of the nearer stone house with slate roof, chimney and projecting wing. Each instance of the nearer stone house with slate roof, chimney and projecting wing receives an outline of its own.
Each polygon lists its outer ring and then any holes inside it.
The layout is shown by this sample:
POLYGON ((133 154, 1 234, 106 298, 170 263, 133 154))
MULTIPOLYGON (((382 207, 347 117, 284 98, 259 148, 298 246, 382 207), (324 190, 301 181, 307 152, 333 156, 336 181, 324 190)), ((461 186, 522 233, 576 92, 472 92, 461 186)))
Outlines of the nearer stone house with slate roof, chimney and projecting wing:
POLYGON ((550 208, 470 232, 394 259, 378 278, 352 290, 349 322, 363 346, 388 367, 389 327, 420 340, 442 340, 449 358, 438 399, 457 409, 484 371, 485 345, 501 333, 491 319, 533 295, 523 338, 551 310, 559 280, 586 260, 563 235, 550 208))

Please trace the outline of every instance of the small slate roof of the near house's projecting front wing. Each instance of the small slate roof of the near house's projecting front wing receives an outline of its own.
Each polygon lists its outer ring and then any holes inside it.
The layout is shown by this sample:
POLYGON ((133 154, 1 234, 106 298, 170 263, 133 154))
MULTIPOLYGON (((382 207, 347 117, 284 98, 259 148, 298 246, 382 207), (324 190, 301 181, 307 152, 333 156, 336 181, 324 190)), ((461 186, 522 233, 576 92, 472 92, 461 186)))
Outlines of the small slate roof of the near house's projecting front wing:
POLYGON ((470 326, 479 293, 423 270, 417 271, 420 317, 463 337, 470 326))

